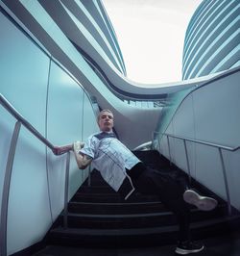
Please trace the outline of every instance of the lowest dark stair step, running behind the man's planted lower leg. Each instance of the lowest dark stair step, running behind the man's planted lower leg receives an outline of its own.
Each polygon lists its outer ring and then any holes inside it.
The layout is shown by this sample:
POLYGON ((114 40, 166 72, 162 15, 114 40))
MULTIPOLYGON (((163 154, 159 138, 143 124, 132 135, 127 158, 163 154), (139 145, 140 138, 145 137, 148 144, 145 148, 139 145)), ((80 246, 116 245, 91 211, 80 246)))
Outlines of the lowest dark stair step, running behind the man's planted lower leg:
MULTIPOLYGON (((239 216, 202 220, 191 224, 194 239, 203 239, 222 233, 233 232, 240 224, 239 216), (207 231, 207 232, 206 232, 207 231), (216 233, 217 232, 217 233, 216 233)), ((134 247, 176 243, 179 226, 169 224, 157 227, 130 229, 63 228, 51 230, 52 244, 90 247, 134 247)))

